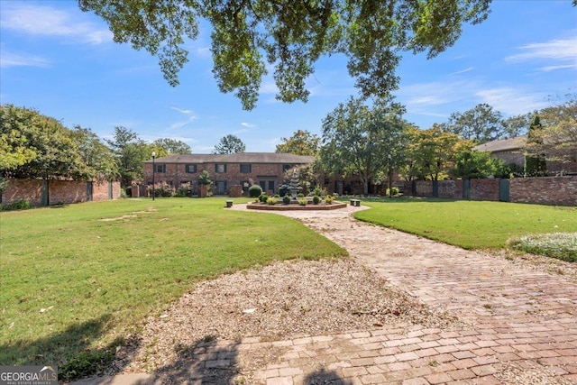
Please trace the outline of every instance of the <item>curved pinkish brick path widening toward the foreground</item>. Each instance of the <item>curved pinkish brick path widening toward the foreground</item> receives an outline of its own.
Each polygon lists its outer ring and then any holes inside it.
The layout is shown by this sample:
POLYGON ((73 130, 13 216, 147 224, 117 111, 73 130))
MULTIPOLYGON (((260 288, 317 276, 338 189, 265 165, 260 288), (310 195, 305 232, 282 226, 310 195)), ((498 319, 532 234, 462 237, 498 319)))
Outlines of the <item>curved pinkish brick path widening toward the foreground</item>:
POLYGON ((298 218, 391 285, 459 316, 467 326, 398 325, 275 342, 256 337, 219 341, 198 346, 196 363, 161 378, 129 375, 80 383, 145 384, 167 378, 217 383, 210 373, 233 367, 242 368, 247 383, 267 385, 577 383, 574 280, 363 224, 351 216, 357 209, 362 207, 282 215, 298 218), (244 361, 244 352, 262 352, 269 360, 255 366, 244 361))

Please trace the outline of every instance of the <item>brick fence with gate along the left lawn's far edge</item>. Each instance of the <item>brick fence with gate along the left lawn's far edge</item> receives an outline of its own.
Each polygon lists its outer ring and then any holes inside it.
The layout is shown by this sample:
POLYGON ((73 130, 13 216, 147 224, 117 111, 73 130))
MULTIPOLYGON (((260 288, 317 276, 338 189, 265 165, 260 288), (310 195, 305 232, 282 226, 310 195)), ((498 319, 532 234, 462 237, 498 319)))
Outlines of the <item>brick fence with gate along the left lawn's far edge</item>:
POLYGON ((26 200, 32 206, 51 206, 118 199, 120 182, 47 179, 8 179, 0 203, 26 200))

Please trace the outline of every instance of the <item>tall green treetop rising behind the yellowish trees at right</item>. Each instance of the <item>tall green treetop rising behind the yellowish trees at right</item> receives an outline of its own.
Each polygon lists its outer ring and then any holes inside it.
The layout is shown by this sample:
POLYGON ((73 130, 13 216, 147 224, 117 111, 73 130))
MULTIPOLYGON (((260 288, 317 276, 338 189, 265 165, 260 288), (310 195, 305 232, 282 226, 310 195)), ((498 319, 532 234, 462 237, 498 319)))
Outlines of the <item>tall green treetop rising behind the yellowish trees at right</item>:
POLYGON ((477 144, 507 137, 501 113, 493 111, 493 107, 487 104, 476 105, 463 114, 453 113, 446 124, 446 130, 477 144))

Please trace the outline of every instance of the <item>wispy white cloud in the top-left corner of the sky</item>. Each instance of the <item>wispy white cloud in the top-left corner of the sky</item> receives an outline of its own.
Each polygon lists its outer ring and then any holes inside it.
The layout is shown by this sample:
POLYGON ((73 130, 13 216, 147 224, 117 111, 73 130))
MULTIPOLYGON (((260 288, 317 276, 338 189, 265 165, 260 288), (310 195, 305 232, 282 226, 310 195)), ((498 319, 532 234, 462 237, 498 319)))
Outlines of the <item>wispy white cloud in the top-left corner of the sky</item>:
MULTIPOLYGON (((78 10, 78 13, 80 11, 78 10)), ((112 32, 94 23, 79 22, 76 14, 50 6, 16 4, 3 6, 2 27, 41 36, 60 36, 71 41, 100 44, 112 41, 112 32)))

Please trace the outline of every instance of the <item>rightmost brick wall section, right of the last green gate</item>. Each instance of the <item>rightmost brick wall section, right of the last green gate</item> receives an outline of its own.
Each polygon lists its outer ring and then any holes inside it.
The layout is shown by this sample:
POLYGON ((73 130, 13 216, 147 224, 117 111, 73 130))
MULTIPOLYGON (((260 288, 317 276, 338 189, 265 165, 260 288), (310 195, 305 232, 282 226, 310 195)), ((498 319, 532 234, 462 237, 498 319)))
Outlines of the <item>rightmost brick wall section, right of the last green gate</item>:
POLYGON ((577 206, 577 176, 511 179, 509 195, 511 202, 577 206))

